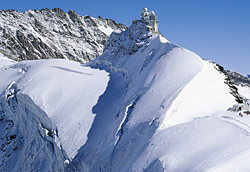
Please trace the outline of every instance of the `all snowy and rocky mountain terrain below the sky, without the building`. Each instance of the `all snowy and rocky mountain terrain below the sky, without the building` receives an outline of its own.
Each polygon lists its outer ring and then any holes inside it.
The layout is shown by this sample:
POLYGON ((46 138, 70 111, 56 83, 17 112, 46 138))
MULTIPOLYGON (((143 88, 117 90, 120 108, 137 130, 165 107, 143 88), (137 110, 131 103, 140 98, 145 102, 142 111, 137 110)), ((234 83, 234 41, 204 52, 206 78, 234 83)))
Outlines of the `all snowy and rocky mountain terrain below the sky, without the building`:
POLYGON ((104 53, 84 65, 65 59, 14 62, 0 54, 0 167, 5 171, 13 164, 12 171, 34 166, 41 171, 227 171, 227 164, 249 169, 239 159, 250 155, 250 118, 226 110, 250 91, 237 90, 222 66, 152 33, 142 21, 123 30, 112 20, 60 9, 2 13, 10 19, 1 29, 1 45, 8 51, 25 45, 20 50, 26 54, 34 50, 54 58, 55 52, 77 52, 85 39, 91 53, 89 45, 103 48, 103 38, 111 34, 104 53), (55 51, 39 49, 46 47, 41 42, 55 44, 55 51), (65 49, 57 51, 58 45, 65 49))

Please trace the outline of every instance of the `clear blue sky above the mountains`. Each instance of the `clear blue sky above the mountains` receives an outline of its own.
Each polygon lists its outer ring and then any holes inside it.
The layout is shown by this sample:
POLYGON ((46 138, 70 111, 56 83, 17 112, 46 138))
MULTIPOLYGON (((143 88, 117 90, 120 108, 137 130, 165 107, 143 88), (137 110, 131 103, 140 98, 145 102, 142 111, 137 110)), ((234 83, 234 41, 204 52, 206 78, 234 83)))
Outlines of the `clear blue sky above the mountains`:
POLYGON ((129 26, 154 10, 169 41, 226 69, 250 74, 250 0, 4 0, 1 9, 62 8, 129 26))

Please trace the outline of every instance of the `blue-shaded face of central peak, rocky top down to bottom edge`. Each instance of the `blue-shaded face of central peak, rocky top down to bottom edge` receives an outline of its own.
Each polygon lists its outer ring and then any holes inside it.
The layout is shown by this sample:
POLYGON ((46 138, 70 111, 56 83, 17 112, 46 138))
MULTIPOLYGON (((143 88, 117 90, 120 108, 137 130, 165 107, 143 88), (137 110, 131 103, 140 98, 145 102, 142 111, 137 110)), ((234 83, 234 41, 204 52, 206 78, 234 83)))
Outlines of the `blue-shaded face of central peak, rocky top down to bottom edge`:
MULTIPOLYGON (((136 26, 146 27, 144 23, 134 22, 131 28, 136 26)), ((113 38, 117 34, 111 35, 103 55, 91 63, 95 68, 106 66, 107 71, 121 73, 123 77, 111 77, 109 82, 111 88, 119 83, 120 93, 116 96, 106 90, 96 105, 105 102, 105 107, 113 107, 108 111, 99 109, 96 117, 105 116, 102 122, 113 127, 98 129, 95 125, 98 121, 94 121, 95 129, 89 133, 87 143, 70 167, 76 171, 130 171, 148 147, 173 100, 202 69, 202 60, 196 54, 169 43, 160 35, 152 35, 146 28, 143 32, 131 33, 133 39, 124 44, 136 49, 133 55, 110 50, 109 46, 114 44, 112 41, 122 44, 122 39, 121 42, 117 40, 129 35, 131 28, 118 38, 113 38), (148 37, 142 47, 133 44, 143 35, 148 37), (121 84, 122 79, 124 84, 121 84), (108 103, 110 96, 116 97, 116 104, 108 103), (85 156, 90 158, 84 159, 85 156)))

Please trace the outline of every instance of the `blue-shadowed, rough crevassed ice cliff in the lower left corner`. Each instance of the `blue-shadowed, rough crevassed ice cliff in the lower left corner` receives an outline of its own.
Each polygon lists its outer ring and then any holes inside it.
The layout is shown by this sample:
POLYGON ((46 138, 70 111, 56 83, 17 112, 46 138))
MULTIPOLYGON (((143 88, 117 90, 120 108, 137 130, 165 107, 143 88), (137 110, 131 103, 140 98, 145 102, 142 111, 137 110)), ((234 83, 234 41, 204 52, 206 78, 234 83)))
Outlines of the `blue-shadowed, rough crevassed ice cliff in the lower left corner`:
POLYGON ((63 171, 57 129, 27 95, 0 98, 1 171, 63 171))

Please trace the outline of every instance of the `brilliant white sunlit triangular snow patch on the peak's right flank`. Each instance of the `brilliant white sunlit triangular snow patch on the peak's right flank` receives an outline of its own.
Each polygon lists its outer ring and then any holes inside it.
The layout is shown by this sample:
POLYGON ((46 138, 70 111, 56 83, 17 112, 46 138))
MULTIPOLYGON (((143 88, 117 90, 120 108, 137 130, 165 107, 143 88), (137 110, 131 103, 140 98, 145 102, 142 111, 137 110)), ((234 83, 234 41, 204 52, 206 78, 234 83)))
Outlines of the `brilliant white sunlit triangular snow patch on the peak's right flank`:
POLYGON ((225 76, 216 71, 213 64, 203 61, 202 70, 172 102, 161 129, 231 107, 235 99, 229 94, 230 89, 224 80, 225 76))

